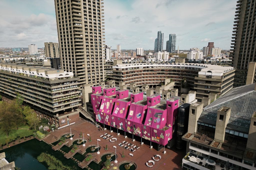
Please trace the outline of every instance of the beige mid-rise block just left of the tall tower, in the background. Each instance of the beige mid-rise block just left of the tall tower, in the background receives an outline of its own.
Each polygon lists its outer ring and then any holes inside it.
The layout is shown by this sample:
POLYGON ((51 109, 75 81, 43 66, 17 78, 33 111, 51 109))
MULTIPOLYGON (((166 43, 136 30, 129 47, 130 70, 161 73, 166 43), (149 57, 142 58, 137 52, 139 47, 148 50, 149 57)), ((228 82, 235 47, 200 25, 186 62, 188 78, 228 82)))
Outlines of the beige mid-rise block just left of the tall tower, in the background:
POLYGON ((44 43, 45 44, 45 56, 49 58, 59 58, 60 50, 59 43, 44 43))

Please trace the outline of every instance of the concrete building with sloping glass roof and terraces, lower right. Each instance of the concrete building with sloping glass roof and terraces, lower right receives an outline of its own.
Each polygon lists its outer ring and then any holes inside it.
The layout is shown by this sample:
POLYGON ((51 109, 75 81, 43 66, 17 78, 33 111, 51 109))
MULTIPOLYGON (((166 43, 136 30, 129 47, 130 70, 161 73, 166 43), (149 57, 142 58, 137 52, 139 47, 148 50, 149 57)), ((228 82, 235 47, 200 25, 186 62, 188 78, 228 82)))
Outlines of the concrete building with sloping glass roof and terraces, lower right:
POLYGON ((204 108, 201 104, 189 108, 183 169, 255 170, 255 84, 233 88, 204 108))

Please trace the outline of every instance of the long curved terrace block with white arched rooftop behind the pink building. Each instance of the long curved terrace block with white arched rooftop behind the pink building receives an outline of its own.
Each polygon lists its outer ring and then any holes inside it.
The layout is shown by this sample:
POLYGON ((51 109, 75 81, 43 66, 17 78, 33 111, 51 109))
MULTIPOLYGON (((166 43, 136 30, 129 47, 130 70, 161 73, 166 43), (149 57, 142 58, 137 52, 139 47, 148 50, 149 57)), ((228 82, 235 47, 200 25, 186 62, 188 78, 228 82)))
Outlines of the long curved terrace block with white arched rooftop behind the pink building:
POLYGON ((116 86, 123 82, 124 85, 133 83, 136 87, 149 84, 155 88, 169 78, 175 83, 174 88, 179 91, 197 91, 196 99, 201 101, 203 97, 215 100, 216 97, 227 93, 233 85, 234 71, 233 67, 190 64, 178 59, 175 59, 175 63, 172 60, 165 63, 155 60, 152 63, 116 64, 113 66, 111 79, 115 81, 116 86))

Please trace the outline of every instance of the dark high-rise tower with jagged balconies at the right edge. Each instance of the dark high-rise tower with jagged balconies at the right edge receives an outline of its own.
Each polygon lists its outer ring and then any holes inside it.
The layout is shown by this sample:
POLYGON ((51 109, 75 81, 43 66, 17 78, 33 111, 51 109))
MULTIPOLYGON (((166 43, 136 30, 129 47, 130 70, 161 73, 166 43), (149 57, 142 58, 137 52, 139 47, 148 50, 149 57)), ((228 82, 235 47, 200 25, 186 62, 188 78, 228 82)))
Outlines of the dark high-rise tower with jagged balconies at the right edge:
POLYGON ((248 70, 249 63, 256 61, 256 7, 255 1, 240 0, 237 3, 230 57, 233 58, 232 66, 236 68, 234 86, 242 86, 247 84, 248 78, 248 82, 256 81, 255 70, 248 70))

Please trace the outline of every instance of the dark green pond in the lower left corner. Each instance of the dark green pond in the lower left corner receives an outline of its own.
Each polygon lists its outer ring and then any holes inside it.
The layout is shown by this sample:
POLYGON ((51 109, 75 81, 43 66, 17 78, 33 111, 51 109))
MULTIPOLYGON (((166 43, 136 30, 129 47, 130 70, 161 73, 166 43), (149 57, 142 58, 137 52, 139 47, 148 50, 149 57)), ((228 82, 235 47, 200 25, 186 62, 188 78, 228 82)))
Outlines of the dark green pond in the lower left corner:
MULTIPOLYGON (((70 148, 64 146, 61 148, 61 150, 68 151, 70 148)), ((77 165, 77 162, 74 162, 72 159, 66 159, 60 151, 54 151, 51 149, 50 145, 43 141, 38 141, 37 139, 31 139, 10 148, 0 150, 0 153, 2 152, 5 152, 6 160, 8 162, 14 161, 15 166, 19 167, 21 170, 47 170, 48 166, 45 163, 40 163, 37 161, 37 156, 39 156, 42 152, 48 152, 49 154, 55 156, 64 165, 72 167, 73 170, 82 169, 77 165)), ((74 158, 80 161, 84 159, 84 156, 77 153, 74 155, 74 158)), ((88 166, 94 170, 100 170, 102 168, 93 161, 88 166)))

